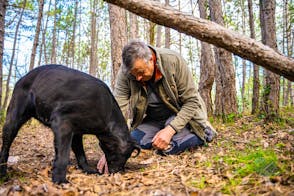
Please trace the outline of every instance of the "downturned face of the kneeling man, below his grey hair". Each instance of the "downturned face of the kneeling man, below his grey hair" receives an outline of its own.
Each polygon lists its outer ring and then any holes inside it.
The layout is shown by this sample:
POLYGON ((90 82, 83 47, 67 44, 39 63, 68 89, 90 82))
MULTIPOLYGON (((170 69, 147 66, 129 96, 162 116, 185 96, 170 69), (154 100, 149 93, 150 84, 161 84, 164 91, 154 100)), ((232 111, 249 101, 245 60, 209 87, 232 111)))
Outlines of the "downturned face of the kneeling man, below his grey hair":
POLYGON ((154 72, 154 63, 150 59, 146 62, 144 59, 137 59, 134 62, 134 66, 131 69, 131 74, 139 82, 146 82, 152 78, 154 72))

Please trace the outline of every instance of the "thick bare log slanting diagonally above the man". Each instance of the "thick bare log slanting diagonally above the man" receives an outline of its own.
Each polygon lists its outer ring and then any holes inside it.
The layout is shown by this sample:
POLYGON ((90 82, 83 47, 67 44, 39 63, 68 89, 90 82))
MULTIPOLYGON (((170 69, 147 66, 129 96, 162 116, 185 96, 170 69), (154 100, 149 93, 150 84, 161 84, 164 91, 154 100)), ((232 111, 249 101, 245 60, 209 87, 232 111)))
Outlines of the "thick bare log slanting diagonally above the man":
POLYGON ((214 22, 196 18, 156 1, 105 0, 160 25, 174 28, 201 41, 225 48, 294 81, 294 60, 256 40, 226 29, 214 22))

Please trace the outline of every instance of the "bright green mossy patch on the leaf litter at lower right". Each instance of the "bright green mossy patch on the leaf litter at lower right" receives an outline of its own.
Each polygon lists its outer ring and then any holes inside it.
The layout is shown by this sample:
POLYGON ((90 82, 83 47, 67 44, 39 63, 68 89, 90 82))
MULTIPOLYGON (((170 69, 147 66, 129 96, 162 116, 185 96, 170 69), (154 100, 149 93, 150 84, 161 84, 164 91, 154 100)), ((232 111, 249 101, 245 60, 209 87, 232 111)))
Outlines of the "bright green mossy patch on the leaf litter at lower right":
MULTIPOLYGON (((252 143, 249 146, 255 146, 255 144, 252 143)), ((253 180, 254 178, 250 178, 250 176, 278 176, 284 171, 283 169, 287 164, 280 163, 273 150, 252 147, 244 151, 232 148, 230 152, 227 152, 227 155, 216 155, 213 160, 213 164, 218 164, 219 168, 224 166, 230 168, 227 170, 228 173, 223 174, 227 178, 227 183, 222 187, 222 193, 225 194, 233 194, 235 187, 240 186, 244 179, 253 180)), ((246 184, 254 183, 246 182, 246 184)))

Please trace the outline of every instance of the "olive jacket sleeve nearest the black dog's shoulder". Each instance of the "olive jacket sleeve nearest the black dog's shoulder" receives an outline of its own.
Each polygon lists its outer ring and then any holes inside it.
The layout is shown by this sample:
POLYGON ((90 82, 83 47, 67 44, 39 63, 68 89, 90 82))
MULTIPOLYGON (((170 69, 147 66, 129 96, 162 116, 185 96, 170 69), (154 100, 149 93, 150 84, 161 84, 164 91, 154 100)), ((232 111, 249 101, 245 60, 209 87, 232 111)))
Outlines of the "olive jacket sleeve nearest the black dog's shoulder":
POLYGON ((130 88, 129 80, 127 76, 122 72, 122 68, 119 69, 117 74, 115 86, 114 86, 114 97, 127 120, 127 110, 130 99, 130 88))

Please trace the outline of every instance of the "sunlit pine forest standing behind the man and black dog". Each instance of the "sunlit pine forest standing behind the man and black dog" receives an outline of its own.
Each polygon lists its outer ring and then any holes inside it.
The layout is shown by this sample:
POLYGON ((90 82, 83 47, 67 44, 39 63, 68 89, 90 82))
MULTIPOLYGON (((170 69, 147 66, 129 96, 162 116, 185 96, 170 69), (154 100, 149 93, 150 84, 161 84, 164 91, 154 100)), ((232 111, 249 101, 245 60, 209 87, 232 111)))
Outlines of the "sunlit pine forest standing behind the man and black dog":
MULTIPOLYGON (((212 20, 292 57, 293 1, 262 2, 161 1, 175 10, 212 20), (267 24, 266 21, 261 23, 266 6, 270 6, 274 16, 273 32, 266 29, 270 25, 262 25, 267 24), (262 32, 268 35, 263 36, 262 32), (266 37, 273 41, 266 41, 266 37)), ((263 68, 237 55, 222 52, 117 6, 109 6, 102 0, 17 0, 6 3, 5 23, 0 26, 5 32, 1 64, 2 114, 15 82, 43 64, 67 65, 98 77, 113 88, 121 64, 121 49, 131 39, 141 39, 181 53, 195 76, 210 116, 221 116, 226 120, 243 112, 252 112, 273 120, 279 118, 280 106, 293 106, 293 83, 284 77, 271 76, 263 68), (275 84, 269 82, 272 80, 275 84)))

